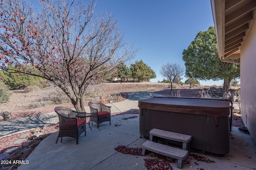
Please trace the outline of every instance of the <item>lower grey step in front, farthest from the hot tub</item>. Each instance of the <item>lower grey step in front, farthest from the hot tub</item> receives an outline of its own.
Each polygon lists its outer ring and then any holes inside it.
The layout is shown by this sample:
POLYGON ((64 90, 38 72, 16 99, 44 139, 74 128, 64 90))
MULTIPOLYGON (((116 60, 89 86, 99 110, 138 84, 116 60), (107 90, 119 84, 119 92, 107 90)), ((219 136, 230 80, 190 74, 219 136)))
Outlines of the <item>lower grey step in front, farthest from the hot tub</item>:
POLYGON ((178 149, 174 147, 170 147, 167 145, 163 145, 160 143, 146 141, 142 145, 142 154, 145 155, 146 150, 150 150, 152 152, 162 154, 164 156, 169 156, 171 158, 178 159, 178 168, 182 168, 185 163, 186 158, 188 158, 188 150, 178 149))

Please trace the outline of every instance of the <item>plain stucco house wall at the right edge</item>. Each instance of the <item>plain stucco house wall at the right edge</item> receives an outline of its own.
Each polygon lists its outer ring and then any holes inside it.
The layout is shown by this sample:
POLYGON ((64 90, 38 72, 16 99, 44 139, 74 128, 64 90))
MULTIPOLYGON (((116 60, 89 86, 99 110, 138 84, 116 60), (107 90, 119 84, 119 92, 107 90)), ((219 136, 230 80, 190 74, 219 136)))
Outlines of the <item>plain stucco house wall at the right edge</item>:
POLYGON ((256 143, 256 20, 242 45, 240 63, 241 117, 256 143))

